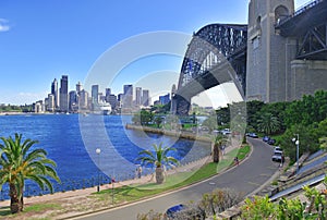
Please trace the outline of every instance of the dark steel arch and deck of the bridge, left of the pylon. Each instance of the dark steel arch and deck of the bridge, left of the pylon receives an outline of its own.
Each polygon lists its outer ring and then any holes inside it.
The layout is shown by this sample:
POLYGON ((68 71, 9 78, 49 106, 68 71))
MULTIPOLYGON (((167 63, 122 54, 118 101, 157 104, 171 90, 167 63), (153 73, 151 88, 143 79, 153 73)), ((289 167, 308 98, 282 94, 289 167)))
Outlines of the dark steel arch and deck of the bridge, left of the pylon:
POLYGON ((181 68, 172 112, 186 115, 191 98, 233 81, 244 97, 247 25, 209 24, 193 34, 181 68))

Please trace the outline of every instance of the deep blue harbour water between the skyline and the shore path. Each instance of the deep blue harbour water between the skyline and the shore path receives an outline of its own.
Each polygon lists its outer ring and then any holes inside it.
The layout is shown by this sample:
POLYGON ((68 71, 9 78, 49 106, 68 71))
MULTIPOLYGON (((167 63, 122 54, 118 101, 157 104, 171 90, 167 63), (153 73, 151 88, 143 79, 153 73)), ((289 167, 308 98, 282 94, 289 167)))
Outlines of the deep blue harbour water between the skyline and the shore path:
MULTIPOLYGON (((0 136, 23 134, 23 138, 37 139, 34 147, 44 148, 48 158, 57 162, 61 183, 55 192, 92 187, 135 178, 135 159, 143 149, 152 149, 153 144, 173 146, 171 156, 187 163, 210 154, 208 143, 178 137, 125 130, 131 115, 82 115, 82 114, 22 114, 0 117, 0 136), (99 148, 100 154, 96 154, 99 148), (100 176, 100 178, 99 178, 100 176)), ((144 167, 143 174, 153 172, 144 167)), ((25 196, 47 194, 27 181, 25 196)), ((2 188, 0 199, 8 198, 8 187, 2 188)))

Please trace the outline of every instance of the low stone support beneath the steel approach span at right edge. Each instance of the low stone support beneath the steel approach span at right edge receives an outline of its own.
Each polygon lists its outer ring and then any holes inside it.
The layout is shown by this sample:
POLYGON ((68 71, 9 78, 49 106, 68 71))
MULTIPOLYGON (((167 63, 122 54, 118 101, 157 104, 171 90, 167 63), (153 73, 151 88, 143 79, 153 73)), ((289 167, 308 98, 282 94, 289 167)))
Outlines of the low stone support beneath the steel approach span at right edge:
POLYGON ((293 60, 291 62, 291 100, 327 89, 327 61, 293 60))

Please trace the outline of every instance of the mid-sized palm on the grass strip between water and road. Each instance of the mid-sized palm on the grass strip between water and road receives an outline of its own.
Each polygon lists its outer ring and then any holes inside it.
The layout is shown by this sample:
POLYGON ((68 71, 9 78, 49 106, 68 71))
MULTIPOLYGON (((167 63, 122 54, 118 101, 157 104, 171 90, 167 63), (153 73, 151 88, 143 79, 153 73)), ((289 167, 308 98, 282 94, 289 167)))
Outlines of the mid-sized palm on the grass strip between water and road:
POLYGON ((140 157, 136 160, 141 160, 142 163, 150 163, 156 166, 156 182, 161 184, 164 182, 164 166, 178 164, 179 161, 168 156, 169 151, 175 150, 173 147, 162 147, 162 143, 157 146, 153 144, 154 151, 142 150, 138 152, 140 157))

